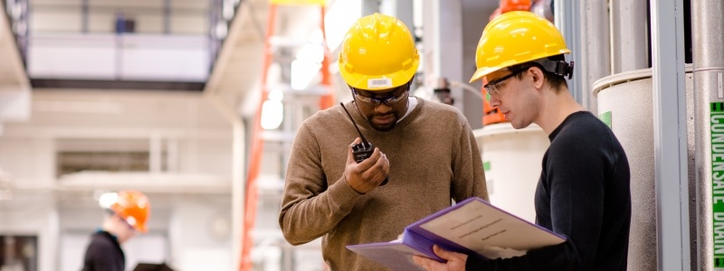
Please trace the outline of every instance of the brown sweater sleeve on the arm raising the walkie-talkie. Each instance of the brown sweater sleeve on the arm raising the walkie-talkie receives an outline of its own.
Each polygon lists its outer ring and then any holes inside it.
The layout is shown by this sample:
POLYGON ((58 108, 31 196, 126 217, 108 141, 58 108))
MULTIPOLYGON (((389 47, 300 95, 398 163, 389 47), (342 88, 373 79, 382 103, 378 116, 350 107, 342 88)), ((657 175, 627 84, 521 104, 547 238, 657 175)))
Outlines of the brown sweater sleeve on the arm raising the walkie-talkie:
POLYGON ((344 177, 329 187, 327 183, 319 142, 303 124, 292 144, 279 215, 284 238, 292 245, 310 242, 334 229, 364 196, 344 177))

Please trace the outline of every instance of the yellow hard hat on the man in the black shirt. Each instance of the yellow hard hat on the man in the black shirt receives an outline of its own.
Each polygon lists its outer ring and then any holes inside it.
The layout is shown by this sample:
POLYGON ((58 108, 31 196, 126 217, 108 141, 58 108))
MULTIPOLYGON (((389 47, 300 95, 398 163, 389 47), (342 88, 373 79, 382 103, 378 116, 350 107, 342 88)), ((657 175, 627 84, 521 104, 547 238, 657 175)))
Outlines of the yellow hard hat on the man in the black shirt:
POLYGON ((516 64, 569 52, 563 35, 545 18, 525 11, 502 14, 482 31, 475 53, 478 70, 470 81, 516 64))

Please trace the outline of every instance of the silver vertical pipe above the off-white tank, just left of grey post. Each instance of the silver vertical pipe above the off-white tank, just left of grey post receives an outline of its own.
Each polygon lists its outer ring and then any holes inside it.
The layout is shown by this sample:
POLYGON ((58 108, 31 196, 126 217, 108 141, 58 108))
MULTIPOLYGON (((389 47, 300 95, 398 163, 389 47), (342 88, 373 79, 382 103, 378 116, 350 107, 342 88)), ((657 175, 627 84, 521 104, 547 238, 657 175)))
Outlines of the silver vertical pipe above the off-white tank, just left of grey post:
POLYGON ((611 0, 611 73, 649 68, 646 1, 611 0))

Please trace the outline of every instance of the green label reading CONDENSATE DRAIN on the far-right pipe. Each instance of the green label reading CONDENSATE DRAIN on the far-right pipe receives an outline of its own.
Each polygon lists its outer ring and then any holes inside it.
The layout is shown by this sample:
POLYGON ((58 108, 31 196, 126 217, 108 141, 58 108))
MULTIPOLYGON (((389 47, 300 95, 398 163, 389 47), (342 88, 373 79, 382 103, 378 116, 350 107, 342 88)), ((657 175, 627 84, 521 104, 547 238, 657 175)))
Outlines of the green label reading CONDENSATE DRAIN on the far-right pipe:
POLYGON ((724 103, 711 103, 711 210, 714 267, 724 267, 724 103))

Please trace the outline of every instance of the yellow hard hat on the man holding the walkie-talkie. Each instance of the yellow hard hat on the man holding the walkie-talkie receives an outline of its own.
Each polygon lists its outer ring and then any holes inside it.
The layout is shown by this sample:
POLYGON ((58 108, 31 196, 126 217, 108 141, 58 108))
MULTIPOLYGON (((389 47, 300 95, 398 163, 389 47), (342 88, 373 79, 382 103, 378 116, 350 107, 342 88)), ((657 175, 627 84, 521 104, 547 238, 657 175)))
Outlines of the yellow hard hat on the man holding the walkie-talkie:
POLYGON ((407 83, 420 64, 420 55, 405 23, 393 16, 371 14, 348 30, 338 64, 349 86, 374 91, 407 83))

